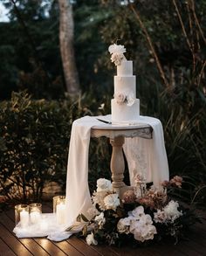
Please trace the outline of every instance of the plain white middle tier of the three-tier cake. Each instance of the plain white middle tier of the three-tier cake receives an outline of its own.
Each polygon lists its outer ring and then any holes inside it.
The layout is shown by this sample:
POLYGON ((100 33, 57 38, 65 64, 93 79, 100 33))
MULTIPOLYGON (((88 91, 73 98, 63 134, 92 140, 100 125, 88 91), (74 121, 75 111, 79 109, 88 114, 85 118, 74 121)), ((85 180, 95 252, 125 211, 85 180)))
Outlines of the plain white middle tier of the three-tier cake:
POLYGON ((133 94, 136 97, 136 76, 114 76, 113 87, 115 93, 133 94))

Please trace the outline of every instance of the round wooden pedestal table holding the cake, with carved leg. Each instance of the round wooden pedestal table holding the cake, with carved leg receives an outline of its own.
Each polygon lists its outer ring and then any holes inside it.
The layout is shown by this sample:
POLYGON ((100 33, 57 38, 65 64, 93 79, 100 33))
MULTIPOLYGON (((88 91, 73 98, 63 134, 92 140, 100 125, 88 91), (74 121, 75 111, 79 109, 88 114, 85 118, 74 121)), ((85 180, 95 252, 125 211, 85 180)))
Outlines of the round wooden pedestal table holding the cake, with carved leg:
POLYGON ((128 190, 128 186, 123 182, 125 163, 122 146, 125 142, 125 137, 141 137, 145 139, 152 139, 153 128, 148 124, 140 125, 106 125, 94 126, 91 129, 92 137, 106 136, 110 139, 113 147, 111 157, 110 169, 112 172, 113 189, 119 193, 121 197, 123 193, 128 190))

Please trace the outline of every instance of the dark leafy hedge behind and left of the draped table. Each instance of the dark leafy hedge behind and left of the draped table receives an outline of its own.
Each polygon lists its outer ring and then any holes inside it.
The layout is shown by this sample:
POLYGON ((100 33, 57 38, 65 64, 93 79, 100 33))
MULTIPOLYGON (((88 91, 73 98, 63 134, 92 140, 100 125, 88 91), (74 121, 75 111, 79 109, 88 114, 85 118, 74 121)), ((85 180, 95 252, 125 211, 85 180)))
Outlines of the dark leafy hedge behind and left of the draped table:
MULTIPOLYGON (((93 114, 81 106, 83 102, 84 97, 76 101, 31 100, 25 92, 12 93, 10 101, 1 102, 0 194, 10 199, 40 200, 49 181, 60 183, 65 189, 72 121, 93 114)), ((90 151, 94 176, 104 168, 97 165, 106 155, 102 142, 98 147, 95 143, 91 143, 90 151)), ((90 180, 93 179, 92 175, 90 180)))

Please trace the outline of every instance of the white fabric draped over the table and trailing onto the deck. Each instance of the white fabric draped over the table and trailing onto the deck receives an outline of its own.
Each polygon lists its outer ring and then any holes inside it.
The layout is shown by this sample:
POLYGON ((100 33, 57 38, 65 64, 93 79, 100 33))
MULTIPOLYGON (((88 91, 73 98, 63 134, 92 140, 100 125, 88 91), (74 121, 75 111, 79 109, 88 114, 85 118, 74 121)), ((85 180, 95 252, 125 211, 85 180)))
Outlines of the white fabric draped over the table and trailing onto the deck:
MULTIPOLYGON (((101 116, 101 118, 110 121, 111 115, 101 116)), ((148 140, 135 137, 125 140, 123 149, 127 157, 131 184, 134 184, 134 176, 141 173, 146 176, 148 182, 152 181, 155 186, 159 186, 162 181, 168 180, 168 159, 161 121, 141 116, 137 123, 149 124, 153 128, 153 138, 148 140)), ((66 180, 67 221, 65 226, 72 225, 79 213, 83 213, 87 218, 92 217, 88 212, 92 206, 88 187, 88 152, 91 128, 98 125, 111 126, 100 123, 95 116, 85 116, 72 123, 66 180)), ((34 232, 32 235, 26 232, 21 233, 19 229, 14 232, 18 237, 35 237, 34 232)), ((39 232, 38 236, 40 236, 39 232)), ((56 232, 48 231, 48 239, 55 241, 68 239, 70 236, 71 232, 63 232, 62 229, 56 232)))

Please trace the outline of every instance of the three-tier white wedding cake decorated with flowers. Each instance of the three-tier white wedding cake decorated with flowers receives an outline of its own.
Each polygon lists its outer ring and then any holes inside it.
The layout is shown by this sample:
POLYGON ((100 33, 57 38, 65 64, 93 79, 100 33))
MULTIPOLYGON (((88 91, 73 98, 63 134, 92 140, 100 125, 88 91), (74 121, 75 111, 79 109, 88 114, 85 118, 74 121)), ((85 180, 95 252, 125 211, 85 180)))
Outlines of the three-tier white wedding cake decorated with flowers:
POLYGON ((113 122, 136 121, 140 116, 140 100, 136 99, 136 76, 133 75, 133 61, 124 56, 123 45, 110 45, 111 60, 117 66, 113 78, 114 94, 111 100, 113 122))

